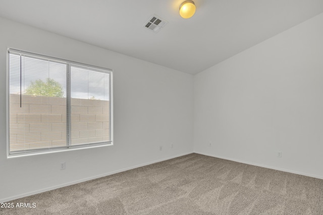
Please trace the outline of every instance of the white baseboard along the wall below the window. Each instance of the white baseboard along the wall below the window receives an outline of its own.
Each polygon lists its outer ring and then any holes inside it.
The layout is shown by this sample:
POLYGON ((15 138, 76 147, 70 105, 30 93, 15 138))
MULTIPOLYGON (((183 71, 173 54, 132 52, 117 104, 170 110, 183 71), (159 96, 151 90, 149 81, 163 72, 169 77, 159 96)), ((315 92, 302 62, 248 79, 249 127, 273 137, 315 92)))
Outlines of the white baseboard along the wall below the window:
POLYGON ((78 183, 93 180, 93 179, 96 179, 96 178, 101 178, 101 177, 113 175, 113 174, 116 174, 116 173, 124 172, 124 171, 127 171, 127 170, 132 170, 132 169, 135 169, 135 168, 138 168, 138 167, 147 166, 147 165, 158 163, 158 162, 161 162, 161 161, 167 161, 167 160, 170 160, 170 159, 173 159, 173 158, 178 158, 178 157, 181 157, 181 156, 184 156, 184 155, 189 155, 189 154, 192 154, 192 153, 193 152, 188 152, 188 153, 184 153, 184 154, 180 154, 180 155, 176 155, 176 156, 172 156, 172 157, 168 157, 168 158, 164 158, 164 159, 155 160, 155 161, 152 161, 152 162, 132 166, 132 167, 129 167, 129 168, 125 168, 125 169, 121 169, 121 170, 117 170, 117 171, 113 171, 113 172, 109 172, 109 173, 105 173, 105 174, 101 174, 101 175, 96 175, 96 176, 93 176, 93 177, 88 177, 88 178, 84 178, 84 179, 80 179, 80 180, 76 180, 76 181, 72 181, 72 182, 68 182, 68 183, 64 183, 64 184, 60 184, 60 185, 56 185, 56 186, 52 186, 52 187, 47 187, 47 188, 40 189, 40 190, 35 190, 35 191, 32 191, 32 192, 19 194, 19 195, 16 195, 16 196, 11 196, 11 197, 8 197, 8 198, 3 198, 3 199, 0 199, 0 202, 12 201, 12 200, 15 200, 15 199, 18 199, 18 198, 22 198, 22 197, 26 197, 26 196, 30 196, 30 195, 34 195, 34 194, 38 194, 38 193, 42 193, 42 192, 46 192, 46 191, 49 191, 49 190, 55 190, 55 189, 58 189, 58 188, 70 186, 70 185, 73 185, 73 184, 78 184, 78 183))

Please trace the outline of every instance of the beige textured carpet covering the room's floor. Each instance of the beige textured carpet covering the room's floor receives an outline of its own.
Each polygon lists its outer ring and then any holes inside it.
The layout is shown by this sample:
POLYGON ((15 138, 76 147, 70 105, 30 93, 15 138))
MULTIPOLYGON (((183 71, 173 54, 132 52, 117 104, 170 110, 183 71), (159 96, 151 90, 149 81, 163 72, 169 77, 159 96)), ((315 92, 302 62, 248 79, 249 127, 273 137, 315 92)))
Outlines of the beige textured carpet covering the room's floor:
POLYGON ((0 214, 323 214, 323 180, 190 154, 20 198, 0 214))

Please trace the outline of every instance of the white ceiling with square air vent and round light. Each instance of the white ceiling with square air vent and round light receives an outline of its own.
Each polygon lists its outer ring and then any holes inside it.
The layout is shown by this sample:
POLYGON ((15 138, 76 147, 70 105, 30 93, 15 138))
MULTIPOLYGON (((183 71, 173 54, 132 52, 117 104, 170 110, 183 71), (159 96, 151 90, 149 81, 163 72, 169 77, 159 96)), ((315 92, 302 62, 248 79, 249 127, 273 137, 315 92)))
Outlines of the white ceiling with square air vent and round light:
POLYGON ((0 16, 189 74, 323 12, 323 0, 0 0, 0 16), (168 21, 157 34, 151 15, 168 21))

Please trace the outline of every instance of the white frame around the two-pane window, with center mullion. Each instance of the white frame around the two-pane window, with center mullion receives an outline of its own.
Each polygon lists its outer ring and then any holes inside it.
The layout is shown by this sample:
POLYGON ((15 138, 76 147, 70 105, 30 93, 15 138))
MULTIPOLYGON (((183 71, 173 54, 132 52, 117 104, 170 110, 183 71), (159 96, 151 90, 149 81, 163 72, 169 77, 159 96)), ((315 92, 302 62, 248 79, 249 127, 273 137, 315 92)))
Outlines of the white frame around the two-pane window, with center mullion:
MULTIPOLYGON (((62 152, 62 151, 69 151, 69 150, 78 150, 78 149, 89 149, 89 148, 96 148, 96 147, 103 147, 103 146, 113 146, 113 140, 114 140, 114 120, 113 120, 113 69, 109 69, 109 68, 104 68, 104 67, 99 67, 99 66, 94 66, 94 65, 89 65, 89 64, 85 64, 85 63, 80 63, 80 62, 75 62, 75 61, 71 61, 71 60, 66 60, 66 59, 61 59, 61 58, 57 58, 57 57, 51 57, 51 56, 46 56, 46 55, 41 55, 41 54, 36 54, 36 53, 32 53, 32 52, 27 52, 27 51, 22 51, 22 50, 18 50, 18 49, 13 49, 13 48, 8 48, 7 49, 7 156, 8 158, 10 157, 20 157, 20 156, 27 156, 27 155, 36 155, 36 154, 46 154, 46 153, 52 153, 52 152, 62 152), (27 150, 24 152, 10 152, 10 53, 16 53, 16 54, 26 54, 26 55, 30 55, 30 56, 35 56, 35 57, 39 57, 39 58, 44 58, 44 59, 51 59, 51 60, 55 60, 55 61, 60 61, 60 62, 64 62, 67 65, 67 70, 66 70, 66 74, 70 73, 69 75, 69 79, 71 83, 71 66, 75 65, 75 66, 81 66, 83 68, 89 68, 89 69, 98 69, 98 70, 102 70, 102 72, 108 73, 109 74, 109 79, 110 79, 110 86, 109 86, 109 108, 110 108, 110 141, 104 141, 104 142, 96 142, 96 143, 90 143, 90 144, 81 144, 81 145, 68 145, 68 141, 66 141, 66 146, 64 147, 56 147, 56 148, 42 148, 42 149, 32 149, 32 150, 27 150)), ((67 81, 67 80, 66 80, 67 81)), ((70 91, 71 94, 71 91, 70 91)), ((71 102, 71 95, 69 95, 70 98, 70 102, 71 102)), ((66 96, 66 100, 68 100, 68 96, 66 96)), ((67 101, 66 101, 67 103, 67 101)), ((71 104, 70 104, 70 108, 71 108, 71 104)), ((72 115, 72 110, 69 110, 69 116, 71 117, 72 115)), ((66 113, 68 115, 68 110, 66 110, 66 113)), ((66 122, 67 122, 67 118, 66 118, 66 122)), ((71 119, 69 119, 71 120, 71 119)), ((71 123, 71 122, 70 122, 71 123)), ((69 128, 71 129, 71 127, 69 128)), ((67 133, 66 133, 67 134, 67 133)), ((67 135, 66 135, 67 136, 67 135)), ((69 136, 71 136, 71 132, 69 133, 69 136)), ((67 137, 68 138, 68 137, 67 137)), ((70 138, 70 137, 69 137, 70 138)))

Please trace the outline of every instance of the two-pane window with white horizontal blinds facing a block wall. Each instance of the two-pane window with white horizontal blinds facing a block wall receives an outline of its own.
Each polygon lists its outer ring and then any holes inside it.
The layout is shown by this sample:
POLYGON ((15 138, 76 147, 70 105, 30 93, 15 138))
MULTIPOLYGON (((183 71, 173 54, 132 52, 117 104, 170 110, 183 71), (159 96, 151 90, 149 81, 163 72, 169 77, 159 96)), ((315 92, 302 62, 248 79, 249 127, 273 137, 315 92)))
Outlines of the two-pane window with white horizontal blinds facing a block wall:
POLYGON ((9 49, 9 155, 112 145, 112 70, 9 49))

